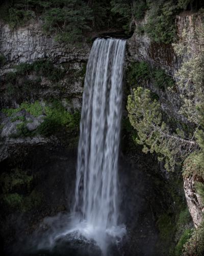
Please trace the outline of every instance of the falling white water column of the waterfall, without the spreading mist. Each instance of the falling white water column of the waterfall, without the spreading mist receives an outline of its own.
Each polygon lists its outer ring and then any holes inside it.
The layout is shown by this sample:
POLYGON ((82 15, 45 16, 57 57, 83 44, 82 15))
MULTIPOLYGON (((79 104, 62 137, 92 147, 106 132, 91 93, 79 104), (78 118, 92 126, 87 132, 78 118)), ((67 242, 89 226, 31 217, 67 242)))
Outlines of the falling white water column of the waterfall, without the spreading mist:
POLYGON ((73 212, 101 236, 118 231, 118 151, 126 41, 96 39, 83 94, 73 212), (117 231, 116 231, 117 230, 117 231))

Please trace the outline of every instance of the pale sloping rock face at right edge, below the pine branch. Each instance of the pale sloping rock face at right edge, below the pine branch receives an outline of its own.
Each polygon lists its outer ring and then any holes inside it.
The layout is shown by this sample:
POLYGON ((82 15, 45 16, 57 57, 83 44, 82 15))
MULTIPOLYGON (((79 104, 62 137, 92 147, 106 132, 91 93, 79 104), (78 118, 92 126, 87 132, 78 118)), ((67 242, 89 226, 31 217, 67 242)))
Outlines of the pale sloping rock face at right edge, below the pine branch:
POLYGON ((193 177, 184 178, 184 191, 195 227, 198 227, 204 213, 204 205, 201 197, 196 193, 195 180, 193 177))

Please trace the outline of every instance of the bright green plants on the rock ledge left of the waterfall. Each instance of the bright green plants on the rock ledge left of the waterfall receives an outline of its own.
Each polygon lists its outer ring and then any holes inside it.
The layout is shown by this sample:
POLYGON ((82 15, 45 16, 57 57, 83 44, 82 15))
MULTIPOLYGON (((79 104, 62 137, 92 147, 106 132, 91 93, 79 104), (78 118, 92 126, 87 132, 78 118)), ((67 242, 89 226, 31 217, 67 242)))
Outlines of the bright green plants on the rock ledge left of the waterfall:
POLYGON ((62 127, 67 132, 79 131, 79 124, 81 114, 80 111, 74 111, 72 114, 67 112, 62 103, 59 100, 53 100, 46 102, 43 106, 39 101, 34 103, 22 102, 17 109, 3 109, 8 117, 11 117, 11 121, 20 120, 22 122, 16 124, 17 133, 13 134, 13 138, 34 136, 39 133, 43 136, 50 136, 59 131, 62 127), (34 117, 38 117, 44 114, 43 122, 37 127, 36 131, 29 131, 27 124, 29 121, 25 120, 25 116, 20 111, 25 110, 34 117), (17 116, 16 114, 19 113, 17 116))

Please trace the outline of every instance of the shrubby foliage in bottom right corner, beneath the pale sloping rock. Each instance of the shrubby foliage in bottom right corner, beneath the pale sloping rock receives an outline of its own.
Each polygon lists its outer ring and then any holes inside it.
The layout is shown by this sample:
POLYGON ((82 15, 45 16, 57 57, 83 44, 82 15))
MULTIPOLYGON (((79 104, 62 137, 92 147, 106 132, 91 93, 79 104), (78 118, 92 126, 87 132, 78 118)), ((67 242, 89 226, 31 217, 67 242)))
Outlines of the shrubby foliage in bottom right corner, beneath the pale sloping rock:
POLYGON ((184 245, 183 255, 184 256, 202 256, 204 254, 204 222, 196 228, 192 234, 192 237, 184 245))

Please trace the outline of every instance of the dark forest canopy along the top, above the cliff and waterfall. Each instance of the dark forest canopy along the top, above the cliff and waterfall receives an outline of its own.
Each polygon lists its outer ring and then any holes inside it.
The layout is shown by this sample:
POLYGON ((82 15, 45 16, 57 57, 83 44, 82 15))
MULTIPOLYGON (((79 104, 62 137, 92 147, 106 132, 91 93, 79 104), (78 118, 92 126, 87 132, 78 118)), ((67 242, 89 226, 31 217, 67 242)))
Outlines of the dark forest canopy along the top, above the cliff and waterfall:
POLYGON ((90 32, 121 30, 127 34, 148 12, 140 32, 168 44, 175 38, 175 15, 204 8, 202 0, 4 0, 0 17, 11 28, 40 17, 46 33, 62 41, 82 41, 90 32))

